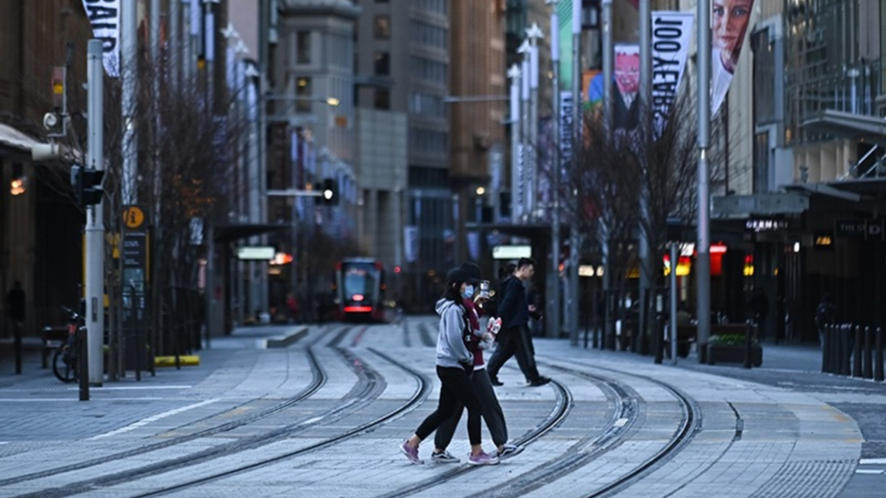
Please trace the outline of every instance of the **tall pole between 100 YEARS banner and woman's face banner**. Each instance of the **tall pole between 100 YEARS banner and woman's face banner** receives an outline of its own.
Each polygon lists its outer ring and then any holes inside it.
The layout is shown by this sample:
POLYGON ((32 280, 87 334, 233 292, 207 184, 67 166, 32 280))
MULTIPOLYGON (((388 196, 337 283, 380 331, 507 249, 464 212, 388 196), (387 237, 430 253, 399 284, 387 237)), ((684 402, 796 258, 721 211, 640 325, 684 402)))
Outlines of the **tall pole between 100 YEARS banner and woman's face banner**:
POLYGON ((708 361, 707 344, 711 337, 711 199, 709 198, 711 146, 711 3, 699 1, 698 19, 698 234, 696 243, 696 279, 698 296, 698 361, 708 361))

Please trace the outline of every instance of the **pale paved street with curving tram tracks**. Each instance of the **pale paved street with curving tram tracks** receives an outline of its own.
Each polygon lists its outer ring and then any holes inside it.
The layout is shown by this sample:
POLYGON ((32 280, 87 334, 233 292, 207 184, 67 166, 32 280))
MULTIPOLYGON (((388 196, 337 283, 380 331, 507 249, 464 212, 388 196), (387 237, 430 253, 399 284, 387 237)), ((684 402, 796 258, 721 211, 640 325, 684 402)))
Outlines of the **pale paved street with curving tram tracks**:
MULTIPOLYGON (((266 326, 200 365, 91 389, 39 356, 0 368, 0 496, 882 496, 886 385, 820 374, 817 348, 763 366, 679 365, 535 338, 548 385, 509 361, 496 394, 519 455, 469 466, 464 424, 431 461, 399 445, 436 406, 437 318, 266 326)), ((488 358, 488 354, 487 354, 488 358)), ((484 428, 484 447, 494 446, 484 428)))

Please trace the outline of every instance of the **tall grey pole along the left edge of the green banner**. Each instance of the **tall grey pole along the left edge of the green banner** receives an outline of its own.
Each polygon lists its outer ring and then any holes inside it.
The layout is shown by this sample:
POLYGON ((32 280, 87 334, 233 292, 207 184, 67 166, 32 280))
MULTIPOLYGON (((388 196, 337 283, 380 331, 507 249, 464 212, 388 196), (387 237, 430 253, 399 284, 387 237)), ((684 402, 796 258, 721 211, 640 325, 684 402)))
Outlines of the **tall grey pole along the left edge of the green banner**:
POLYGON ((551 8, 551 109, 553 110, 554 135, 554 178, 551 200, 551 265, 548 276, 548 308, 545 321, 548 323, 548 337, 560 335, 560 16, 556 12, 559 0, 547 0, 551 8))

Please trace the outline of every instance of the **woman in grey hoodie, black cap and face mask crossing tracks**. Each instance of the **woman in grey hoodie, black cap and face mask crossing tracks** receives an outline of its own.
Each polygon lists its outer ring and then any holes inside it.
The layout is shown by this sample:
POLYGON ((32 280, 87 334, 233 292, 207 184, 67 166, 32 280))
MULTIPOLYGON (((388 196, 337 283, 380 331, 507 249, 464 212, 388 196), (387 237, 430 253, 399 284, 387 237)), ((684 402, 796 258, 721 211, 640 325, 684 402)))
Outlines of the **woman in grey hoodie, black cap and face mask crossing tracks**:
POLYGON ((480 416, 482 408, 477 388, 470 377, 474 371, 474 355, 470 353, 465 338, 472 335, 467 310, 463 300, 473 294, 473 286, 468 282, 470 275, 462 268, 453 268, 447 272, 446 292, 437 301, 436 310, 440 316, 439 333, 437 336, 437 377, 440 379, 440 395, 437 409, 424 418, 416 432, 403 441, 400 452, 406 455, 409 462, 424 463, 418 455, 418 446, 439 429, 459 407, 468 409, 468 439, 470 440, 471 465, 494 465, 499 463, 497 456, 488 455, 483 451, 480 433, 480 416))

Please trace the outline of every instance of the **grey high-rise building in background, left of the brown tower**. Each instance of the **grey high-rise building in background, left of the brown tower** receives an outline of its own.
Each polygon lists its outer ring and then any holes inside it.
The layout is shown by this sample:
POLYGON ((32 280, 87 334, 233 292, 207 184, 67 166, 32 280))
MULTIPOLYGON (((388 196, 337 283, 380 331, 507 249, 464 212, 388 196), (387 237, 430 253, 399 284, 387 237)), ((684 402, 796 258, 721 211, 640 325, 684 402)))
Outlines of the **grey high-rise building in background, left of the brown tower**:
MULTIPOLYGON (((374 0, 361 2, 360 8, 355 38, 357 126, 365 132, 358 136, 360 161, 371 161, 377 171, 362 192, 364 203, 377 202, 375 208, 364 204, 364 226, 377 227, 368 233, 379 251, 406 234, 401 255, 408 276, 403 280, 414 287, 408 295, 416 302, 431 302, 439 289, 424 284, 422 276, 433 280, 455 262, 444 102, 449 93, 450 2, 374 0), (382 140, 392 149, 375 145, 382 140), (400 173, 404 159, 405 176, 400 173), (383 173, 384 167, 394 172, 383 173), (383 229, 396 220, 383 215, 384 206, 402 214, 403 229, 396 228, 397 234, 383 229)), ((367 172, 361 168, 363 175, 367 172)), ((394 255, 400 252, 393 249, 394 255)))

